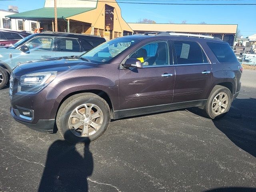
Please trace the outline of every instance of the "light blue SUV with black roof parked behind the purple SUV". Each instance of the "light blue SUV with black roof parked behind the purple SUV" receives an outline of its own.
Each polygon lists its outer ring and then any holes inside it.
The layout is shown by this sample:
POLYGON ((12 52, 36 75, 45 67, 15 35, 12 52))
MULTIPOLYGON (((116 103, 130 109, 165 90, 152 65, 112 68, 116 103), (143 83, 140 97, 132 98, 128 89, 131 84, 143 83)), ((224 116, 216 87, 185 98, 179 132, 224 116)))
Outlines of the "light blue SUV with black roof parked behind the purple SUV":
POLYGON ((8 76, 18 64, 63 56, 80 55, 106 42, 94 35, 62 32, 31 34, 9 48, 0 49, 0 89, 6 86, 8 76))

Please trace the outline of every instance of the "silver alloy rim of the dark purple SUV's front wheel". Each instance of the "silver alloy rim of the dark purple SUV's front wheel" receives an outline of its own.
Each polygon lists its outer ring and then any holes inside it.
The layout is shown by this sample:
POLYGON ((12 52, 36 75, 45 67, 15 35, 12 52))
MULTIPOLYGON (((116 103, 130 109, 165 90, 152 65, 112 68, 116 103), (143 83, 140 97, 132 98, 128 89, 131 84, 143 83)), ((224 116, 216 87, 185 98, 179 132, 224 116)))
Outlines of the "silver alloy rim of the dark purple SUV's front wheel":
POLYGON ((76 107, 69 116, 68 126, 78 137, 95 134, 103 122, 102 110, 95 104, 82 104, 76 107))

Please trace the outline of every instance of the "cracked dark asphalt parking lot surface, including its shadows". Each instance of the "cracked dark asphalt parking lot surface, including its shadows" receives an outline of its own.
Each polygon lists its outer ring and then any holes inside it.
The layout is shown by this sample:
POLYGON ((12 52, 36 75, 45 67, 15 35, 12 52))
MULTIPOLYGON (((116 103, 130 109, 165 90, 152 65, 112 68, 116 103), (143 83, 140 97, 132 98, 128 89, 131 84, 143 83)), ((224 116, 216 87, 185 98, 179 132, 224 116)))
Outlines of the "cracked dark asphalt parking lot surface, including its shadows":
POLYGON ((220 120, 198 108, 116 120, 90 146, 14 121, 0 90, 0 192, 256 191, 256 71, 243 81, 220 120))

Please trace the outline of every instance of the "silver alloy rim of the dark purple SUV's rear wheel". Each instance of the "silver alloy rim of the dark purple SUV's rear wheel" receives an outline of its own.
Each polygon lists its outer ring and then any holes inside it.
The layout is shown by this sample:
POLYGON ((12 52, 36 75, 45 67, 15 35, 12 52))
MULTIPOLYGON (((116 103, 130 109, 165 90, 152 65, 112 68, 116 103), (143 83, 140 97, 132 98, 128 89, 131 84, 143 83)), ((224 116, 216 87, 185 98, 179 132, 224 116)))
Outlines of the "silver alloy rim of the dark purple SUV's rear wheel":
POLYGON ((222 114, 228 107, 228 95, 224 92, 216 95, 212 101, 212 112, 216 115, 222 114))

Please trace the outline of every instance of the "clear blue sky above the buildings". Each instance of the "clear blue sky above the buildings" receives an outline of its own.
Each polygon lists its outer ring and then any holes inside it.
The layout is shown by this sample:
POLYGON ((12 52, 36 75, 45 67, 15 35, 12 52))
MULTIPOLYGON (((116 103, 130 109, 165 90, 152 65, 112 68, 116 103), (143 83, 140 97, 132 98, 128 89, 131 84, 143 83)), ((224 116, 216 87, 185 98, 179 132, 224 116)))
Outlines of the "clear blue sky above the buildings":
MULTIPOLYGON (((124 1, 124 0, 123 0, 124 1)), ((134 1, 135 2, 135 1, 134 1)), ((148 2, 147 0, 139 2, 148 2)), ((152 1, 151 1, 152 2, 152 1)), ((161 2, 156 0, 155 2, 161 2)), ((163 3, 163 1, 161 2, 163 3)), ((184 1, 173 0, 169 3, 256 3, 256 0, 202 0, 184 1)), ((19 7, 20 12, 42 8, 44 0, 10 0, 0 1, 0 9, 6 10, 8 5, 19 7)), ((241 34, 250 36, 256 34, 256 5, 244 6, 213 6, 213 5, 148 5, 120 3, 122 17, 126 22, 136 22, 140 18, 155 20, 157 23, 181 23, 186 20, 188 24, 238 24, 241 34)))

